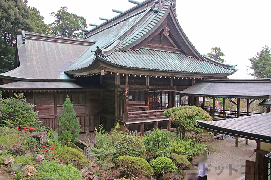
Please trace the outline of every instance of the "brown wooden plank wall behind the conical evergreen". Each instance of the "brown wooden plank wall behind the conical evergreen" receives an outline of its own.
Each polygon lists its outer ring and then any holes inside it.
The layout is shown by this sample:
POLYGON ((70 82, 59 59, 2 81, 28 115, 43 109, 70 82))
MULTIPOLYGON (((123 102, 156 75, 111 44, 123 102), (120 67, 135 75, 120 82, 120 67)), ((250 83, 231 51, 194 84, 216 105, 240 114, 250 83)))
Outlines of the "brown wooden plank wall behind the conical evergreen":
POLYGON ((26 101, 35 104, 35 110, 39 111, 39 120, 43 126, 58 127, 58 117, 63 108, 63 102, 67 95, 73 102, 76 116, 81 125, 81 132, 95 131, 100 124, 101 92, 25 92, 26 101))

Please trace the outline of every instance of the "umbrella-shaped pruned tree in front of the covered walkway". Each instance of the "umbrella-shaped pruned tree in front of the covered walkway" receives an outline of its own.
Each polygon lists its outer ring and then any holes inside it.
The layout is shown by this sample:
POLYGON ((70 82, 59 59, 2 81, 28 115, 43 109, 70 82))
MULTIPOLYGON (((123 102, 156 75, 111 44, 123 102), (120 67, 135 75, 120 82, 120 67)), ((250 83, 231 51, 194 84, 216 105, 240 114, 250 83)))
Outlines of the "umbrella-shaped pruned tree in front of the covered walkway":
POLYGON ((169 117, 170 121, 176 124, 176 137, 182 133, 185 136, 185 131, 189 131, 188 138, 193 141, 200 141, 203 135, 203 130, 196 128, 197 120, 212 121, 211 116, 197 106, 179 106, 170 108, 164 112, 164 115, 169 117))

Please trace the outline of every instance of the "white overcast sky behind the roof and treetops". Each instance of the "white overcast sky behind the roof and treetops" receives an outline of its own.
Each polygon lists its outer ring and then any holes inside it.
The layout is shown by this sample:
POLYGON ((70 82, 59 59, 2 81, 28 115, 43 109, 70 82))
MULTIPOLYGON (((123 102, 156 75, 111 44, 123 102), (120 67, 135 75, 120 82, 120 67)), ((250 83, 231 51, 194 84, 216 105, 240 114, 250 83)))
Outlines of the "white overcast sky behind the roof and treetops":
MULTIPOLYGON (((87 24, 104 22, 99 17, 117 16, 112 9, 125 11, 135 6, 128 0, 28 0, 28 5, 36 7, 47 24, 55 20, 50 13, 62 6, 83 16, 87 24)), ((177 0, 177 19, 201 54, 220 47, 226 64, 238 65, 230 79, 253 78, 246 74, 249 56, 255 56, 265 44, 271 48, 270 7, 270 0, 177 0)))

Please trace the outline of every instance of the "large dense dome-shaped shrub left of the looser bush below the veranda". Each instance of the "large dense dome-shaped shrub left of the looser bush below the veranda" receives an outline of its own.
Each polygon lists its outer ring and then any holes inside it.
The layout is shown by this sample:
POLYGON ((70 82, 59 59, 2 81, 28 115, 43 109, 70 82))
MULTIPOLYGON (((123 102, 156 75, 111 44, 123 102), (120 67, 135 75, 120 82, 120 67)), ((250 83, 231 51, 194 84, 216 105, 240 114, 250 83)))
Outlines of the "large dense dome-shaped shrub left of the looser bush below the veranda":
POLYGON ((139 136, 122 136, 114 146, 115 158, 125 155, 139 158, 145 156, 145 147, 142 138, 139 136))

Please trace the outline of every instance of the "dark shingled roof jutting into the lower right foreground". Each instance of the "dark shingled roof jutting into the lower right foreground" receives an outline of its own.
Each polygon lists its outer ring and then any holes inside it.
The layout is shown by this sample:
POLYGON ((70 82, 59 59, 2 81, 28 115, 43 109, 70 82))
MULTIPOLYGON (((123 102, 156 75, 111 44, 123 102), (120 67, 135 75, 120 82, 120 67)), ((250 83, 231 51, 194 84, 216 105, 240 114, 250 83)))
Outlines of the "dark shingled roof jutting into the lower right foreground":
POLYGON ((220 121, 197 121, 195 127, 211 132, 229 134, 271 143, 271 113, 256 114, 220 121))

